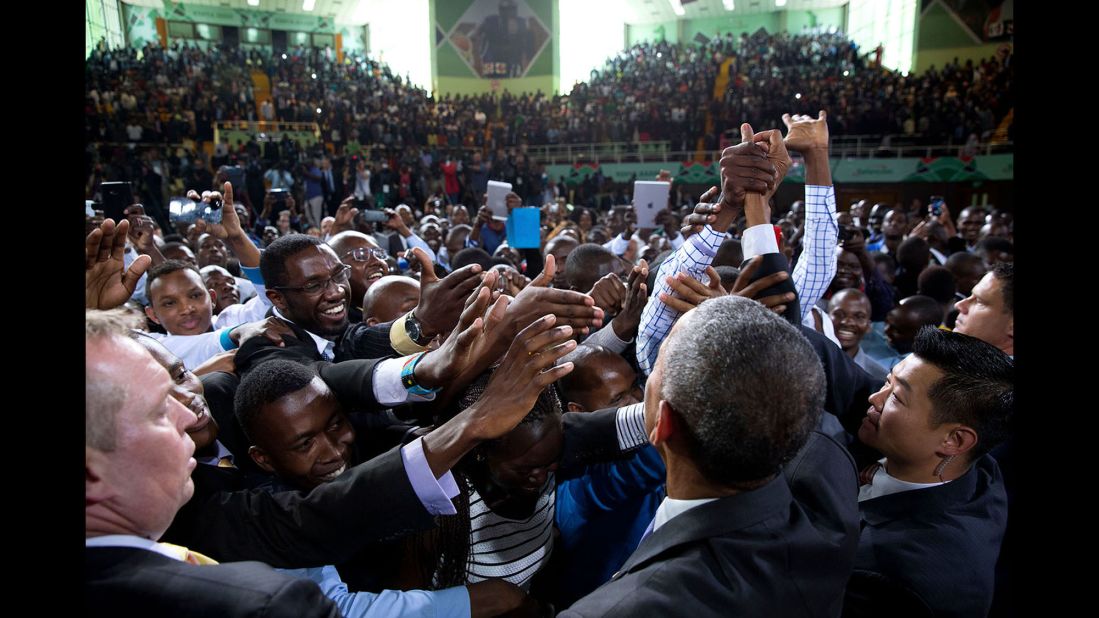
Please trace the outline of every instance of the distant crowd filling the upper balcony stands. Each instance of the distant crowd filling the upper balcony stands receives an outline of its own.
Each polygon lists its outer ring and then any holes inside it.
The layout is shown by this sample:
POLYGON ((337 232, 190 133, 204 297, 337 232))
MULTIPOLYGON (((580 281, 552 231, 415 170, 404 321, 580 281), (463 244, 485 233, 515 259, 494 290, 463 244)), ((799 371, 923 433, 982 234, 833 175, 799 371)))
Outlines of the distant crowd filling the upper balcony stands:
MULTIPOLYGON (((898 134, 929 144, 987 141, 1013 106, 1010 51, 923 75, 886 69, 841 32, 724 33, 706 43, 645 42, 593 69, 568 93, 433 97, 358 52, 298 46, 276 54, 174 42, 99 47, 86 62, 89 141, 207 141, 212 122, 317 122, 324 142, 398 150, 491 152, 521 144, 667 140, 688 151, 712 114, 777 124, 789 109, 832 110, 833 135, 898 134), (723 63, 729 60, 728 68, 723 63), (270 81, 255 98, 253 70, 270 81), (729 87, 713 97, 720 70, 729 87)), ((708 145, 714 151, 717 145, 708 145)))

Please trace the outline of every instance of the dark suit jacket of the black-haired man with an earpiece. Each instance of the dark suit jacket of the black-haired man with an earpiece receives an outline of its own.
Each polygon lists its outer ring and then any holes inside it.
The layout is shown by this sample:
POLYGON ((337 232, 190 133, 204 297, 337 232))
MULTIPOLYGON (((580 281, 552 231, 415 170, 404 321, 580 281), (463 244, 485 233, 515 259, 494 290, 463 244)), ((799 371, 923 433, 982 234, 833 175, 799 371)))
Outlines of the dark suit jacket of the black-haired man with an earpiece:
MULTIPOLYGON (((999 467, 988 455, 945 485, 864 500, 855 569, 903 586, 935 616, 986 616, 1007 506, 999 467)), ((881 610, 850 603, 845 615, 881 610)))

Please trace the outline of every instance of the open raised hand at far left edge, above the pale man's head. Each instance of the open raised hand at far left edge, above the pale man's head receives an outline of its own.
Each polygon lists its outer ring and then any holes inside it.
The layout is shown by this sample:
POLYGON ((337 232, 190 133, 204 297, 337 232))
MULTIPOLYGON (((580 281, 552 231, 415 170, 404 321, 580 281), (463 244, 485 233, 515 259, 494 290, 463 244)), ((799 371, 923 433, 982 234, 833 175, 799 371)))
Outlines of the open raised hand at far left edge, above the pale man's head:
POLYGON ((133 295, 137 279, 153 258, 138 255, 127 269, 123 260, 130 222, 106 219, 85 240, 84 306, 87 309, 113 309, 133 295))

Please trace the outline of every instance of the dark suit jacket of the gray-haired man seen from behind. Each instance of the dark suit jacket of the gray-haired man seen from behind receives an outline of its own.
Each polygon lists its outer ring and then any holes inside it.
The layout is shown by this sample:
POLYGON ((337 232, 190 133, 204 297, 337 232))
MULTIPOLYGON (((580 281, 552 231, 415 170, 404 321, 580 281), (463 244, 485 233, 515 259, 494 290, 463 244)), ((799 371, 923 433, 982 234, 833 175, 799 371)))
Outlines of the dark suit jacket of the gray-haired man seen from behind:
POLYGON ((778 475, 677 516, 560 616, 832 616, 844 561, 778 475))

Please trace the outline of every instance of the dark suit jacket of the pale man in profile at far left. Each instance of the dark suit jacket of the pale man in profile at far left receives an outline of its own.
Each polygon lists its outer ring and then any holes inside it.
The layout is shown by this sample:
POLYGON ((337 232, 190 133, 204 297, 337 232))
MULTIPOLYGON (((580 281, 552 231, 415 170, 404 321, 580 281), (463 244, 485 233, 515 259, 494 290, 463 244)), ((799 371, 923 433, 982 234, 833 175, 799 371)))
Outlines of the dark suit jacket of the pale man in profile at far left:
POLYGON ((266 564, 196 566, 135 548, 85 550, 85 609, 96 616, 340 616, 317 584, 266 564))

